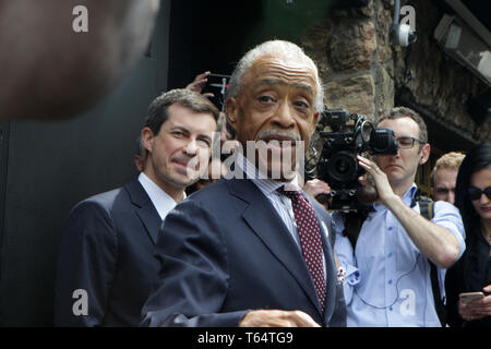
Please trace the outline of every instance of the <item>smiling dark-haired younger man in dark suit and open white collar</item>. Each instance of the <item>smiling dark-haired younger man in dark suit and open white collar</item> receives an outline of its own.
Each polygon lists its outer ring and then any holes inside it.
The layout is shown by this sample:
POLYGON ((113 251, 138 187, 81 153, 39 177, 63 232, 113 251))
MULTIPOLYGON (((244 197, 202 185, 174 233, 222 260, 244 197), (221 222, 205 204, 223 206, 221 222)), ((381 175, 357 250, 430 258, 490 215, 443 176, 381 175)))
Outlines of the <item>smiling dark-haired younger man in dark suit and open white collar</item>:
POLYGON ((70 214, 59 248, 56 325, 140 323, 158 273, 158 229, 206 170, 217 119, 213 104, 189 89, 170 91, 151 104, 139 178, 79 203, 70 214))

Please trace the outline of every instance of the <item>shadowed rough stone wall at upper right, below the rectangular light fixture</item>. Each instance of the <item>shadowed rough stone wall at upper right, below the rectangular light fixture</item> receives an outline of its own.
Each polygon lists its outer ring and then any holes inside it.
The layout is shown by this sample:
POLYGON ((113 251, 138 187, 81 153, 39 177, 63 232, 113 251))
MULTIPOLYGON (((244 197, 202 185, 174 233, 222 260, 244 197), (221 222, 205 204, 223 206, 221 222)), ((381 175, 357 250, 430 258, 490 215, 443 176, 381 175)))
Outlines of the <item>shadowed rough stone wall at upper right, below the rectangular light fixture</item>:
POLYGON ((396 88, 406 88, 419 107, 456 132, 476 142, 491 140, 491 122, 477 124, 466 108, 469 98, 489 87, 436 44, 433 32, 442 10, 432 1, 417 1, 415 8, 418 41, 394 55, 396 88))

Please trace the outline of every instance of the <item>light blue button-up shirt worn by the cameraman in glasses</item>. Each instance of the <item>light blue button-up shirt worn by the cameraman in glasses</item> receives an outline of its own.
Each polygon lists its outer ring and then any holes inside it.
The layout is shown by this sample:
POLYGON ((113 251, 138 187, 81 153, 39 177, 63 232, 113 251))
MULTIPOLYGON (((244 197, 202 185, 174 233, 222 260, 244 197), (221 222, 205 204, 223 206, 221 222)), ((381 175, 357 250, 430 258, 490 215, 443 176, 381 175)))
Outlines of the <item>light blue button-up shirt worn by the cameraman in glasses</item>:
MULTIPOLYGON (((406 205, 416 194, 416 184, 404 194, 406 205)), ((348 326, 441 326, 434 308, 430 264, 403 228, 383 205, 373 205, 363 222, 356 250, 343 236, 344 220, 336 221, 335 251, 346 269, 344 281, 348 326)), ((412 209, 419 213, 417 204, 412 209)), ((450 230, 465 250, 465 232, 458 209, 436 202, 431 220, 450 230)), ((446 269, 438 268, 441 294, 444 294, 446 269)))

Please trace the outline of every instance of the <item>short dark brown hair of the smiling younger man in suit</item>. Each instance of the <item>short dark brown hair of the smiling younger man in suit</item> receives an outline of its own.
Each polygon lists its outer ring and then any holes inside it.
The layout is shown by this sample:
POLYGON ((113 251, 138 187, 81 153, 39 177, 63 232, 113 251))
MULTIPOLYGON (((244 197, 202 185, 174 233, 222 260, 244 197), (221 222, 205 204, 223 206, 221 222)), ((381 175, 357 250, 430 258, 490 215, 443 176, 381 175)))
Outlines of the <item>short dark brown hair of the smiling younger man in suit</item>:
POLYGON ((218 121, 219 111, 206 97, 185 88, 171 89, 155 98, 148 107, 145 125, 156 135, 169 118, 169 107, 180 105, 193 112, 209 113, 218 121))

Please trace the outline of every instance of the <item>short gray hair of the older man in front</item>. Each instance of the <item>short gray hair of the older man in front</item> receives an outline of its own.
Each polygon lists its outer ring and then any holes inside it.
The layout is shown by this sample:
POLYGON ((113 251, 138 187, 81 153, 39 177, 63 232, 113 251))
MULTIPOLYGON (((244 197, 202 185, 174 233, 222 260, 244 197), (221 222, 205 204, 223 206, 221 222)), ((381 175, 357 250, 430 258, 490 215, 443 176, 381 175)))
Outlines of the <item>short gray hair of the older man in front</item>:
POLYGON ((314 109, 319 112, 324 110, 324 88, 319 77, 318 67, 313 60, 307 56, 303 50, 289 41, 284 40, 271 40, 258 45, 253 49, 249 50, 239 61, 236 69, 233 70, 230 82, 227 89, 227 98, 237 97, 243 87, 243 74, 244 72, 254 63, 259 58, 271 56, 284 58, 289 61, 307 62, 312 65, 315 73, 315 82, 318 94, 315 96, 314 109))

